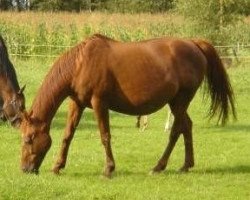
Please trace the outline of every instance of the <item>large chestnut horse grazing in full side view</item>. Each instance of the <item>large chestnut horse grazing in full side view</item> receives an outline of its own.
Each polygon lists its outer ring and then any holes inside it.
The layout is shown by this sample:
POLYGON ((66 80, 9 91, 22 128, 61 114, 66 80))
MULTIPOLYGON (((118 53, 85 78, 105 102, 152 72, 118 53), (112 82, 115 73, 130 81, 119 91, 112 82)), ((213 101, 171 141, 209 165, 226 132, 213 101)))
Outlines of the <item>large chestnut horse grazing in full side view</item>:
POLYGON ((169 104, 174 123, 169 143, 153 168, 160 172, 182 133, 185 161, 194 165, 192 121, 187 108, 204 77, 211 95, 210 114, 225 124, 234 108, 233 91, 214 47, 203 40, 159 38, 123 43, 96 34, 62 55, 52 66, 29 113, 24 113, 21 168, 38 173, 51 146, 50 125, 59 105, 70 97, 67 125, 59 157, 53 167, 65 167, 70 142, 84 108, 94 110, 106 153, 104 175, 115 169, 111 148, 109 110, 147 115, 169 104))

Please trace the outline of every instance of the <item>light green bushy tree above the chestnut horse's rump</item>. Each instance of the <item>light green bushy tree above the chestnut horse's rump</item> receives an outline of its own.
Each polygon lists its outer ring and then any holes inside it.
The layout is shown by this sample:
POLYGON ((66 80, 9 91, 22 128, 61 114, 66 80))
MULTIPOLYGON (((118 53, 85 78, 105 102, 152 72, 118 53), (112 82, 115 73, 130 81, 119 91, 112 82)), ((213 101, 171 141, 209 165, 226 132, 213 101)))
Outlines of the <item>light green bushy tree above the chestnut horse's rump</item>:
MULTIPOLYGON (((244 1, 244 0, 240 0, 244 1)), ((203 35, 218 44, 232 41, 240 21, 238 0, 178 0, 177 12, 183 15, 195 34, 203 35), (231 34, 225 34, 229 32, 231 34)))

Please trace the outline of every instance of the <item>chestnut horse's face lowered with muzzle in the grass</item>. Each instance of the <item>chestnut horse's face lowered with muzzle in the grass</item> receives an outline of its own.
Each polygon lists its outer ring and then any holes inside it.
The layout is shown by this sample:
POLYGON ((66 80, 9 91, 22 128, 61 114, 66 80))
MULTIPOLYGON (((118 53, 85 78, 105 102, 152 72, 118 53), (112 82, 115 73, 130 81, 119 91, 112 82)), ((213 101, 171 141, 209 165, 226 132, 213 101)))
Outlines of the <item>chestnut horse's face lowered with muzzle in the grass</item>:
POLYGON ((51 146, 46 127, 32 119, 23 119, 21 126, 21 169, 27 173, 38 173, 39 167, 51 146))

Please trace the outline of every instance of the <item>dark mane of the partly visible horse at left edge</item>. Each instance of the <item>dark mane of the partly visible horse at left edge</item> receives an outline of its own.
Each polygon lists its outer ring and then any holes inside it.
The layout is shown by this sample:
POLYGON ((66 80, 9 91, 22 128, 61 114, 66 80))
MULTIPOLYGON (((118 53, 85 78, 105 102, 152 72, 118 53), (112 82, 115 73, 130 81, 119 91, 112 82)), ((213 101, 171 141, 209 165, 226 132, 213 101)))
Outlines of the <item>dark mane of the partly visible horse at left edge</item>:
POLYGON ((7 78, 11 81, 14 89, 19 90, 19 84, 17 81, 16 71, 9 60, 9 54, 7 47, 5 45, 3 37, 0 35, 0 73, 5 74, 7 78))

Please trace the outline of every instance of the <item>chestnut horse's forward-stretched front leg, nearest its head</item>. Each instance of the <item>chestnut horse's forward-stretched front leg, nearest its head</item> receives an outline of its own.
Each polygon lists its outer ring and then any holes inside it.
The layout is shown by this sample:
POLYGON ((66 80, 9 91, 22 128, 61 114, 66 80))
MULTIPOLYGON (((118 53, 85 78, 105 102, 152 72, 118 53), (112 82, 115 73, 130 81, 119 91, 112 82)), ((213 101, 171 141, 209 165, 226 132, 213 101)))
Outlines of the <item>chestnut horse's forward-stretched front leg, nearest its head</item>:
POLYGON ((74 137, 75 129, 78 126, 82 112, 83 112, 83 107, 81 107, 73 99, 71 99, 69 102, 68 119, 62 140, 61 150, 58 159, 52 169, 52 171, 56 174, 58 174, 60 169, 63 169, 66 165, 69 146, 71 140, 74 137))

